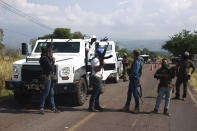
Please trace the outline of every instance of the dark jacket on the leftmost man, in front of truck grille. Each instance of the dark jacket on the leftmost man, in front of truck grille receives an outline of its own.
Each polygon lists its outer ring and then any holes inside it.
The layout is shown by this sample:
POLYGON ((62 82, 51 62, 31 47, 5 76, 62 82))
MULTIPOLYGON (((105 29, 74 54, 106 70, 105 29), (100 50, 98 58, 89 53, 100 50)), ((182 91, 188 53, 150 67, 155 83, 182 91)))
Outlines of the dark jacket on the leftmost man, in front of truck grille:
POLYGON ((54 62, 49 56, 42 54, 39 62, 42 69, 42 74, 52 74, 52 72, 54 71, 54 62))

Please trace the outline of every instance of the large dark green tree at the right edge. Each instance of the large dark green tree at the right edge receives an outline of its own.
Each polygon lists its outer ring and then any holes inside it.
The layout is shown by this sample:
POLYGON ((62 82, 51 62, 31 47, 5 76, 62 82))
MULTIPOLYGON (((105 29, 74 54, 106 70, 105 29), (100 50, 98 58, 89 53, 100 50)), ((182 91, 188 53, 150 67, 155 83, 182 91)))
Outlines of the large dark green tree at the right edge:
POLYGON ((183 30, 170 37, 170 40, 168 40, 162 48, 175 56, 183 54, 185 51, 194 54, 197 52, 197 31, 191 32, 183 30))

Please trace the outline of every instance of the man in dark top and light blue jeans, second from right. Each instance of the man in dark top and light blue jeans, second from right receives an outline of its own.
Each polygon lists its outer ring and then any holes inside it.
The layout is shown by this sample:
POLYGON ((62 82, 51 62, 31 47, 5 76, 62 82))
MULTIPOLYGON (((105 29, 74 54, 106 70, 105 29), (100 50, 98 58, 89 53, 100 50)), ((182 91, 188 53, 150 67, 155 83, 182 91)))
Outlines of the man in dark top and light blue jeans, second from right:
POLYGON ((172 89, 173 89, 172 78, 175 77, 175 69, 174 68, 169 69, 167 59, 163 58, 162 67, 156 71, 154 77, 160 80, 160 83, 159 83, 160 89, 159 89, 159 93, 157 96, 157 100, 156 100, 156 104, 155 104, 155 108, 153 112, 158 113, 160 102, 163 96, 165 95, 165 106, 164 106, 163 113, 165 115, 170 115, 168 112, 168 109, 169 109, 170 97, 171 97, 172 89))

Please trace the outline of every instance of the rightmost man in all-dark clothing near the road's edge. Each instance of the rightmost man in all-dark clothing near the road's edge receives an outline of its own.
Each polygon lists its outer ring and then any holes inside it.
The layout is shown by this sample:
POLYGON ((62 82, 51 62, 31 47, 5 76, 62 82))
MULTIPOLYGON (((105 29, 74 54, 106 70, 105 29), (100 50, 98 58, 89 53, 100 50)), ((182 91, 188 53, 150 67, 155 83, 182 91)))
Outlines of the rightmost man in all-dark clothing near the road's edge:
POLYGON ((189 60, 189 52, 185 52, 183 59, 177 65, 176 96, 173 99, 180 99, 180 85, 183 83, 183 100, 187 95, 187 83, 195 71, 194 63, 189 60), (192 71, 190 70, 192 68, 192 71))

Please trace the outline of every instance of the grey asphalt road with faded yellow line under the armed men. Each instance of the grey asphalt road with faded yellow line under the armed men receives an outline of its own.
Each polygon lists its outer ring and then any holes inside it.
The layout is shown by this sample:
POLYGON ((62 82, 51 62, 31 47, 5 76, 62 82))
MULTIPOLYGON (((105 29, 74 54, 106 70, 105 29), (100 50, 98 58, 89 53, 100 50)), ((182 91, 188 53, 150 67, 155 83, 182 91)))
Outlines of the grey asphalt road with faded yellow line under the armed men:
MULTIPOLYGON (((46 110, 39 114, 39 103, 19 106, 14 100, 0 103, 0 131, 197 131, 197 93, 189 88, 186 101, 172 100, 170 117, 151 113, 157 96, 158 81, 153 79, 149 66, 144 67, 141 79, 143 104, 140 113, 122 112, 128 82, 107 83, 100 97, 103 112, 88 112, 88 100, 80 107, 59 106, 60 113, 46 110)), ((132 99, 131 110, 134 108, 132 99)))

